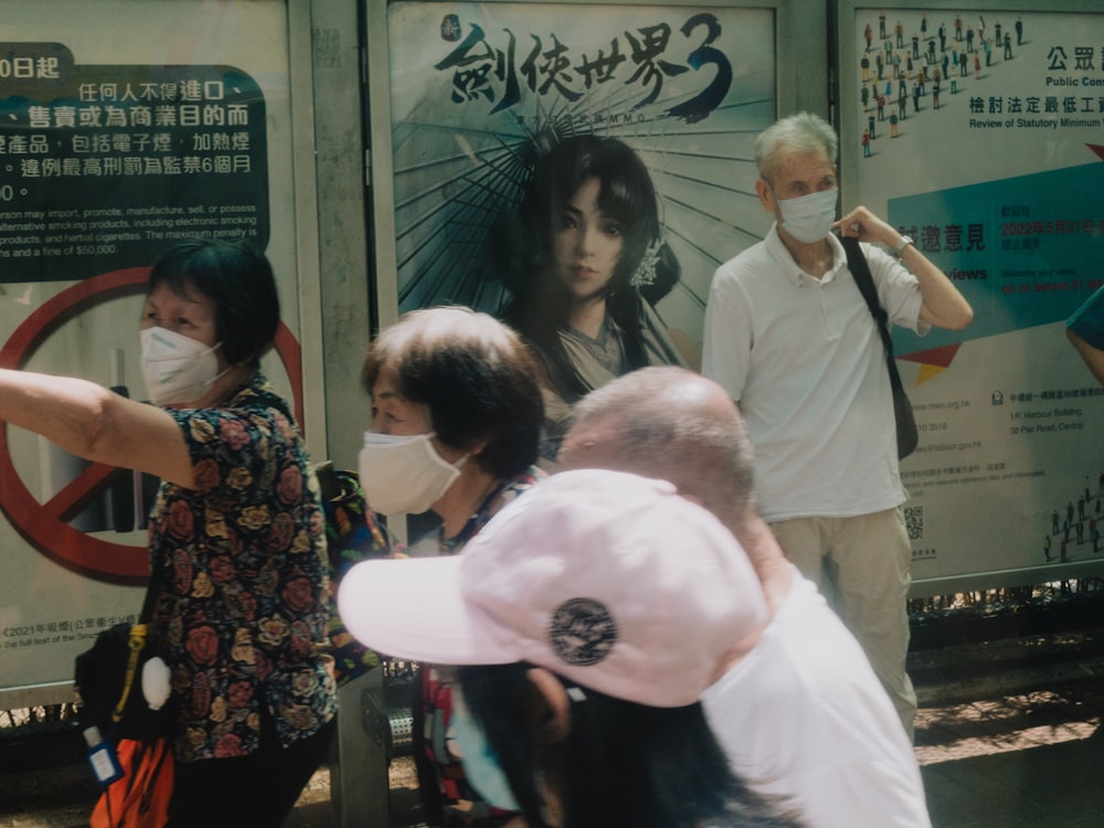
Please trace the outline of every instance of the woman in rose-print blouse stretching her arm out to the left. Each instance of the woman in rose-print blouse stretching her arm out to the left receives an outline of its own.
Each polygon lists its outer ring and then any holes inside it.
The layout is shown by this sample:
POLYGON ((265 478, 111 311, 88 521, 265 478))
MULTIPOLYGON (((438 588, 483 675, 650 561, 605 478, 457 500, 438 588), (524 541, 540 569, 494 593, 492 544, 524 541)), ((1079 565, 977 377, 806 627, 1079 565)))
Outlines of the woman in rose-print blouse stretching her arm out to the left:
POLYGON ((326 757, 325 527, 287 403, 261 372, 279 300, 265 256, 184 242, 150 273, 145 403, 0 373, 0 416, 89 460, 161 478, 155 649, 171 670, 176 826, 278 826, 326 757))

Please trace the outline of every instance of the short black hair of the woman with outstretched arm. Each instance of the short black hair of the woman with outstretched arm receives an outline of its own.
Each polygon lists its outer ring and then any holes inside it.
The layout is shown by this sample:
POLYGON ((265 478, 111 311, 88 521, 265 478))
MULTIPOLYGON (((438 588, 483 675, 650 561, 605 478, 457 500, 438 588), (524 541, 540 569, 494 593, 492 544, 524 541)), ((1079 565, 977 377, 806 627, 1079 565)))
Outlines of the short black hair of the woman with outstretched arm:
POLYGON ((247 242, 191 238, 161 254, 147 296, 160 285, 180 296, 198 290, 215 306, 222 352, 232 365, 261 365, 279 327, 279 296, 272 264, 247 242))

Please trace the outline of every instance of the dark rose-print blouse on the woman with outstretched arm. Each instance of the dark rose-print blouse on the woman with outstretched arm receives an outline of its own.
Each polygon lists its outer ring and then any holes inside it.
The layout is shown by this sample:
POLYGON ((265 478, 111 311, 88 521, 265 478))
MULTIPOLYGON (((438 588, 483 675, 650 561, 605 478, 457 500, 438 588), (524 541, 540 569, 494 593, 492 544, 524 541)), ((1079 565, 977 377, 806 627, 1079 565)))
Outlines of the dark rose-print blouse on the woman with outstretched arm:
POLYGON ((328 561, 318 487, 287 404, 259 373, 219 408, 168 410, 195 489, 162 482, 157 651, 172 671, 176 756, 255 752, 265 705, 280 744, 337 710, 326 669, 328 561))

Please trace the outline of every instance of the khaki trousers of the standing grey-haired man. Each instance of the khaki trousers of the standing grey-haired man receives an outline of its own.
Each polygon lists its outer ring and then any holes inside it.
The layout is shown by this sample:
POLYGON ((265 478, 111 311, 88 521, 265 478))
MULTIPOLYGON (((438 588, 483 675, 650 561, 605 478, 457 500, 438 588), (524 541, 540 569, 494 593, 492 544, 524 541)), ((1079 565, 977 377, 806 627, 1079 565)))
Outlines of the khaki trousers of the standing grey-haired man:
POLYGON ((905 671, 912 544, 902 510, 795 518, 772 523, 771 530, 854 634, 912 739, 916 691, 905 671))

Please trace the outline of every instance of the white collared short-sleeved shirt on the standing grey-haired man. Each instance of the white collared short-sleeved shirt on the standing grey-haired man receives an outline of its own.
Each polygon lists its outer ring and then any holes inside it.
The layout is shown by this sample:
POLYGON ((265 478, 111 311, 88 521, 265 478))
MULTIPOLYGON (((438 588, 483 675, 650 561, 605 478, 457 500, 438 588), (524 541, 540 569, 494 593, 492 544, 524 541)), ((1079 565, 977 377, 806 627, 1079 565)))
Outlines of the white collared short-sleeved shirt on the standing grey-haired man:
MULTIPOLYGON (((830 240, 835 261, 817 279, 772 227, 718 268, 705 306, 702 373, 740 404, 768 522, 870 514, 907 499, 878 326, 830 240)), ((916 277, 880 248, 862 250, 890 321, 926 333, 916 277)))

